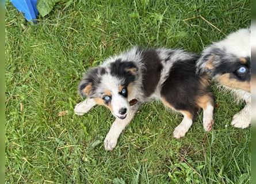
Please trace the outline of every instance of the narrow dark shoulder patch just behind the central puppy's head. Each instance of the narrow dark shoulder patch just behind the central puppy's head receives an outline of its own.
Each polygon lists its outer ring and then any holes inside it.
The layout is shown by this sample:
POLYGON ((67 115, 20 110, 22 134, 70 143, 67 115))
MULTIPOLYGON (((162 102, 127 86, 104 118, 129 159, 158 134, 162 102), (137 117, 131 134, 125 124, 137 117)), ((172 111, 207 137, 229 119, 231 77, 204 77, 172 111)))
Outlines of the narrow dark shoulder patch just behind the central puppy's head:
POLYGON ((154 93, 158 85, 163 66, 158 57, 158 53, 154 49, 143 50, 141 53, 143 57, 142 62, 146 67, 146 70, 143 71, 144 95, 149 97, 154 93))

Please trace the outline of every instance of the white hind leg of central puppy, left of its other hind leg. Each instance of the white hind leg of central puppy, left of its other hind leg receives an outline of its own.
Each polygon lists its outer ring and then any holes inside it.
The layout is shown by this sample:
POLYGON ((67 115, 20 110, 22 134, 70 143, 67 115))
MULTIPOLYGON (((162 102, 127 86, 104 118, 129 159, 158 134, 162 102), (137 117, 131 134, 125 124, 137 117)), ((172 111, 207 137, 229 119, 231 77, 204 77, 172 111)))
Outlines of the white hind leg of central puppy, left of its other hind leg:
POLYGON ((181 123, 174 129, 173 132, 173 137, 177 139, 184 137, 193 123, 193 113, 185 110, 180 112, 184 115, 184 118, 181 123))

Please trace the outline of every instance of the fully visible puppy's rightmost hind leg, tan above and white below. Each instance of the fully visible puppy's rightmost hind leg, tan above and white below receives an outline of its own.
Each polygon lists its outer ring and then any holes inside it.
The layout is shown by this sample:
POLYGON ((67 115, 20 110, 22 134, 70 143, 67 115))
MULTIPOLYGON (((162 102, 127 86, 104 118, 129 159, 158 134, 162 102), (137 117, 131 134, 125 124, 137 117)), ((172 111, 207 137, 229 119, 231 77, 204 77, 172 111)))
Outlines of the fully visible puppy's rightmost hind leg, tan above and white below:
POLYGON ((198 106, 203 110, 202 124, 204 125, 205 131, 209 132, 212 129, 214 123, 213 120, 213 97, 212 94, 205 94, 198 98, 198 106))

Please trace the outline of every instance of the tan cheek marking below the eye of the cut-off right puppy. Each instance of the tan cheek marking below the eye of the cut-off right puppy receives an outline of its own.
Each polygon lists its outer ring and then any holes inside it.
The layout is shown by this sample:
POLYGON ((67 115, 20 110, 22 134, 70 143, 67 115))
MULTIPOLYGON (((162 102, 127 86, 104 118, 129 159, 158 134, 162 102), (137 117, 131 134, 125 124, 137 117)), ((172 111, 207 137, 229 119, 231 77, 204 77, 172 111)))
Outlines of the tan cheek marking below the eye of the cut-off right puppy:
POLYGON ((247 82, 247 81, 240 82, 236 79, 232 79, 232 78, 230 78, 230 74, 220 75, 220 76, 217 77, 217 80, 221 84, 223 84, 225 86, 228 86, 228 87, 231 87, 231 88, 241 89, 241 90, 248 91, 248 92, 251 91, 250 82, 247 82))

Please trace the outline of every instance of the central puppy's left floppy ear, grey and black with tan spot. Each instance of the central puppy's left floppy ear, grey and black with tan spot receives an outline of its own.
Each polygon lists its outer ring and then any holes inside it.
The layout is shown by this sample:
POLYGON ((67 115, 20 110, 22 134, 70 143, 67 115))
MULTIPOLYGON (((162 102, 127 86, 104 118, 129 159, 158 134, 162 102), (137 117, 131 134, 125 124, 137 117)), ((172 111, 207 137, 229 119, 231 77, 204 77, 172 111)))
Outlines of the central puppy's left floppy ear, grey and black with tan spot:
POLYGON ((93 94, 93 86, 97 83, 98 79, 98 68, 89 69, 79 83, 78 93, 82 97, 90 97, 93 94))

